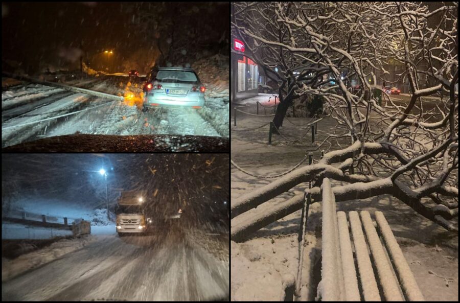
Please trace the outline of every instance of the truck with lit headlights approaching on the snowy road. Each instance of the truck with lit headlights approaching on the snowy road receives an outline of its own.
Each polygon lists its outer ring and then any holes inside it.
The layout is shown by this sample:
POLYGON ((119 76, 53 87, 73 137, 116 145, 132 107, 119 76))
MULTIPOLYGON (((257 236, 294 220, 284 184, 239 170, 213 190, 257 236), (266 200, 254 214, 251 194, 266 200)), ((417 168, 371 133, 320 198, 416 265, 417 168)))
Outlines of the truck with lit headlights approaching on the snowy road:
POLYGON ((115 208, 118 235, 128 233, 145 233, 151 218, 146 218, 146 193, 141 191, 124 191, 120 194, 115 208))

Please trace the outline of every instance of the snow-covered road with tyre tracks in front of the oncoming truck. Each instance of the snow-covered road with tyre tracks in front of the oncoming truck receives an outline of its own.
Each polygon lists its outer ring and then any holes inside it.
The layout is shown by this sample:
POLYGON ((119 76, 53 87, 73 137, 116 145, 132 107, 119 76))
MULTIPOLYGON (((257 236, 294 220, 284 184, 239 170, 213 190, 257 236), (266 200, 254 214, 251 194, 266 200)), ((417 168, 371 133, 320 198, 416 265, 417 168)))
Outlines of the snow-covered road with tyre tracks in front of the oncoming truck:
MULTIPOLYGON (((222 247, 228 255, 228 238, 222 247)), ((214 240, 215 241, 215 240, 214 240)), ((179 227, 100 240, 2 284, 2 300, 228 300, 228 262, 179 227)))

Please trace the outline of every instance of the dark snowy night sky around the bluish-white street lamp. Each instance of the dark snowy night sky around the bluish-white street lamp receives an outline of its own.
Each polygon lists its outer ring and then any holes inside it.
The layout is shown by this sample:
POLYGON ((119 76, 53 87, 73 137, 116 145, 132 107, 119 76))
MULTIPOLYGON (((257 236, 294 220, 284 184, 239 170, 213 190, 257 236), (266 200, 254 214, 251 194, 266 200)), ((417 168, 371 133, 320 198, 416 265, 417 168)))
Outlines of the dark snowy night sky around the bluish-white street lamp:
POLYGON ((153 197, 152 212, 170 215, 182 207, 195 221, 227 218, 227 154, 3 154, 2 200, 8 195, 103 208, 101 168, 108 172, 112 206, 120 191, 145 190, 153 197))

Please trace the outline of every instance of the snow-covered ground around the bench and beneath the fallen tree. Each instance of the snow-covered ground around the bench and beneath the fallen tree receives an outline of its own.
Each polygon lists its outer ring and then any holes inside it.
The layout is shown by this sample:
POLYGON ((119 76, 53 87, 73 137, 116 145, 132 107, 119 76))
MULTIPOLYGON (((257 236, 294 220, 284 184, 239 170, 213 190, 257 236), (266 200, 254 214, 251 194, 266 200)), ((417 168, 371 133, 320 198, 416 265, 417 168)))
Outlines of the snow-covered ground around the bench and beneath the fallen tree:
MULTIPOLYGON (((268 94, 270 95, 270 94, 268 94)), ((265 98, 266 96, 259 97, 265 98)), ((255 102, 243 100, 242 110, 255 113, 255 102)), ((260 108, 259 108, 260 110, 260 108)), ((232 112, 233 114, 233 112, 232 112)), ((250 129, 263 125, 270 117, 254 117, 238 113, 235 129, 250 129)), ((290 118, 299 125, 306 124, 308 118, 290 118)), ((321 142, 326 133, 321 131, 335 125, 330 120, 318 122, 316 143, 321 142)), ((232 121, 232 129, 234 129, 232 121)), ((289 137, 301 137, 303 131, 285 120, 284 133, 289 137)), ((309 131, 306 129, 305 131, 309 131)), ((282 130, 283 132, 283 130, 282 130)), ((305 156, 306 150, 316 148, 311 137, 301 142, 288 142, 279 135, 273 135, 273 144, 267 145, 268 126, 258 130, 232 131, 232 159, 241 168, 263 176, 283 173, 296 165, 305 156)), ((346 142, 339 141, 341 144, 346 142)), ((334 142, 335 143, 335 142, 334 142)), ((332 149, 337 149, 334 144, 332 149)), ((319 151, 314 152, 314 160, 319 159, 319 151)), ((303 164, 300 167, 303 167, 303 164)), ((275 179, 259 179, 248 176, 232 167, 232 198, 250 193, 275 179)), ((332 186, 340 184, 332 181, 332 186)), ((251 209, 232 220, 232 225, 252 216, 264 213, 271 205, 283 203, 294 195, 302 195, 308 183, 299 184, 294 189, 269 200, 256 209, 251 209)), ((392 228, 417 283, 426 300, 458 300, 458 236, 421 217, 404 203, 390 196, 373 197, 337 203, 337 211, 382 211, 392 228), (417 231, 417 232, 415 232, 417 231), (452 277, 453 282, 446 286, 444 278, 452 277)), ((300 228, 301 210, 260 229, 243 243, 231 242, 232 300, 279 300, 281 277, 284 274, 297 274, 300 247, 297 241, 300 228)), ((319 282, 321 254, 321 205, 313 203, 309 209, 306 246, 302 270, 301 297, 313 300, 319 282)))

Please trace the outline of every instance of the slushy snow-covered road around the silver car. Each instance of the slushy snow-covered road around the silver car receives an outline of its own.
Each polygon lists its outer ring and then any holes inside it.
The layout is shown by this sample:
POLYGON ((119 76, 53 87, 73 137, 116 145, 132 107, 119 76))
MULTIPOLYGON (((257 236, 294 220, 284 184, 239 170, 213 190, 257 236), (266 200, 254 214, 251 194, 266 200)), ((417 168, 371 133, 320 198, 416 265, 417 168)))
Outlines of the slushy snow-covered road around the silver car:
POLYGON ((2 147, 74 133, 228 135, 228 126, 223 119, 226 117, 228 121, 228 104, 222 98, 210 96, 202 112, 195 109, 142 112, 138 104, 142 100, 141 85, 128 81, 126 77, 104 77, 91 82, 82 80, 85 88, 118 96, 135 96, 124 102, 72 94, 38 84, 14 86, 3 91, 2 147), (76 113, 66 115, 73 112, 76 113), (226 134, 222 129, 226 129, 226 134))

